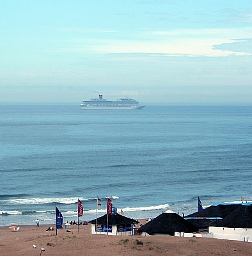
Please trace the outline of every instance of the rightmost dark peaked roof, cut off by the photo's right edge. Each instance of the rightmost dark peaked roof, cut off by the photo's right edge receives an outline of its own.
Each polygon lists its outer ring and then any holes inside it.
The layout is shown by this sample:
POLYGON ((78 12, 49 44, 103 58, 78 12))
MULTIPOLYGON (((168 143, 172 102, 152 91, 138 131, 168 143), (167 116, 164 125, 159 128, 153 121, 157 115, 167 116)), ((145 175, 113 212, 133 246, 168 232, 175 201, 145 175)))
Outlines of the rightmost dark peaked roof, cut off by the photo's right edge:
POLYGON ((252 205, 239 205, 235 211, 219 221, 217 227, 252 228, 252 205))

